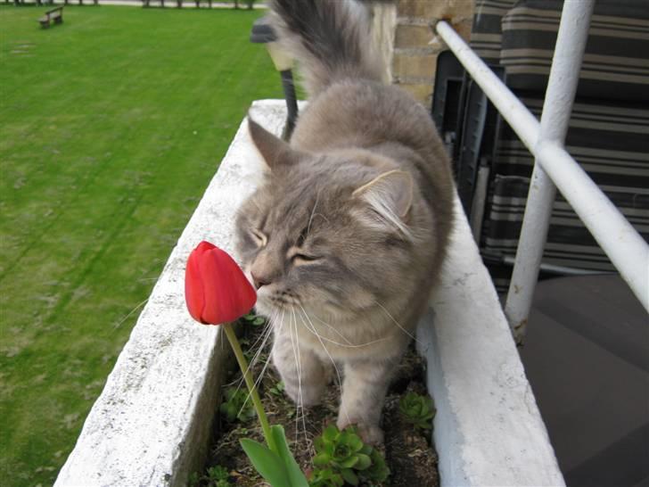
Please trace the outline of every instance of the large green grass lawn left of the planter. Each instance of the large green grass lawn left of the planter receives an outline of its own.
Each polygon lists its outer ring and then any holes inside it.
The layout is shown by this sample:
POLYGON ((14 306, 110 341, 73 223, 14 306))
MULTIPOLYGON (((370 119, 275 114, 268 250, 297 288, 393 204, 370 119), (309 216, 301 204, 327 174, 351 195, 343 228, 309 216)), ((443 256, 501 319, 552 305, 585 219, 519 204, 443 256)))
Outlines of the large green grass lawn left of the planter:
POLYGON ((0 484, 53 482, 251 101, 259 12, 0 7, 0 484))

